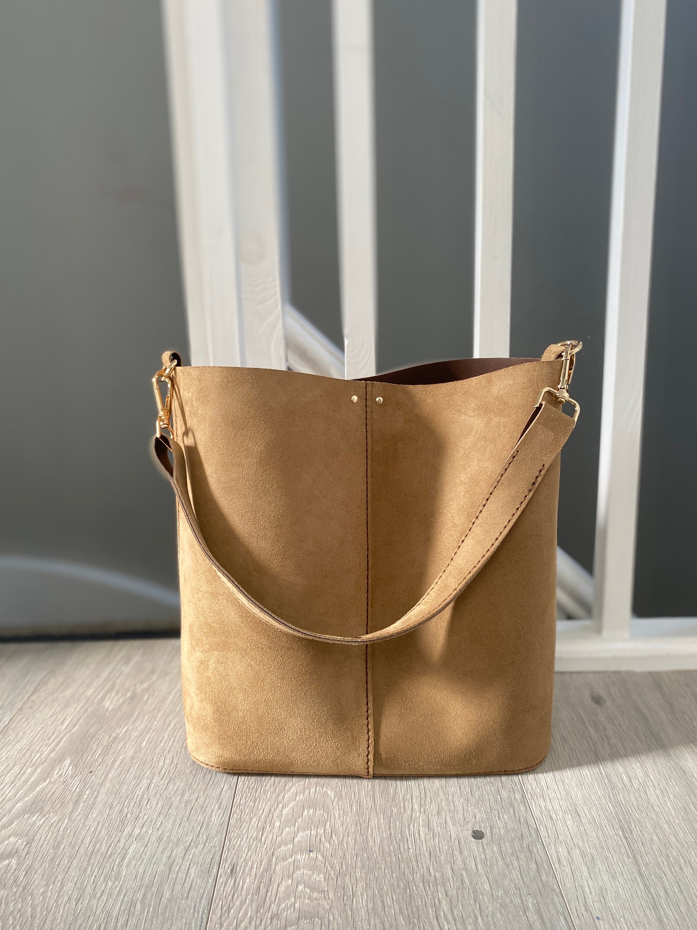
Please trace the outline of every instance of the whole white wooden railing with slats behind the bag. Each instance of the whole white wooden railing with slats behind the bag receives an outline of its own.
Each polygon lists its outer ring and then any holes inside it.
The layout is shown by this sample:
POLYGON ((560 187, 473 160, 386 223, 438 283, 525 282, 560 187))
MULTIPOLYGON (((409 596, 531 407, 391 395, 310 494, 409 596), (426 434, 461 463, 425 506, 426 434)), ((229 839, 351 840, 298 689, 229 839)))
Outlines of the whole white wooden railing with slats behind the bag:
MULTIPOLYGON (((375 374, 373 9, 333 0, 345 352, 288 304, 273 0, 163 0, 195 365, 375 374)), ((474 352, 509 352, 516 0, 479 0, 474 352)), ((665 0, 623 0, 594 579, 559 554, 559 669, 697 668, 697 619, 632 618, 665 0), (590 603, 592 600, 592 604, 590 603), (590 618, 592 612, 592 619, 590 618), (588 619, 583 619, 587 614, 588 619)))

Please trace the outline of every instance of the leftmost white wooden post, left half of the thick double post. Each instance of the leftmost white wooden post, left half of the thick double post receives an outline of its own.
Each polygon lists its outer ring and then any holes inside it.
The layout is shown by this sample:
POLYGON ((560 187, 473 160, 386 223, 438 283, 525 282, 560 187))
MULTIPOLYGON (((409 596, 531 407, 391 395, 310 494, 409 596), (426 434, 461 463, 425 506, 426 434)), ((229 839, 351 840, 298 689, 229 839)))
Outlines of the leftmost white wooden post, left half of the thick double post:
POLYGON ((192 365, 243 365, 219 0, 163 0, 179 250, 192 365))

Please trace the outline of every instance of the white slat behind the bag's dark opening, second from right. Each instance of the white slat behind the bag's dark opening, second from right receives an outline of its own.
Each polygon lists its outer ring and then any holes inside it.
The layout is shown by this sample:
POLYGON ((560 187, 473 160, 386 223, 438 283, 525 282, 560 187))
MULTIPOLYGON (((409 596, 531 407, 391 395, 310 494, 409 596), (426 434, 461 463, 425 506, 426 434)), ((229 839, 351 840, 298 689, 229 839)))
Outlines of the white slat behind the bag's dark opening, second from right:
POLYGON ((510 352, 513 141, 518 0, 479 0, 475 180, 474 349, 510 352))

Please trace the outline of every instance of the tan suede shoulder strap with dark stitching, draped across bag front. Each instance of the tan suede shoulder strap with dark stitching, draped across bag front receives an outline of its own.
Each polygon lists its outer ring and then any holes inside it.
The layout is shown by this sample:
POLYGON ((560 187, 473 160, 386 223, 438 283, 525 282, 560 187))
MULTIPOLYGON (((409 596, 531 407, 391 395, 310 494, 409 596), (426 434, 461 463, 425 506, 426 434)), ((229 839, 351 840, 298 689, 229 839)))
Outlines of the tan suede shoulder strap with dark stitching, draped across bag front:
POLYGON ((474 519, 464 530, 462 538, 438 578, 403 617, 383 630, 365 633, 362 636, 333 636, 303 630, 276 617, 251 594, 244 591, 208 549, 191 503, 187 463, 181 446, 164 435, 159 436, 155 438, 155 454, 169 473, 181 511, 201 551, 216 569, 218 578, 226 588, 255 617, 279 630, 305 639, 327 643, 368 644, 379 643, 414 630, 453 603, 506 538, 511 526, 518 520, 523 508, 533 496, 547 468, 557 458, 561 447, 571 435, 573 426, 573 419, 563 414, 556 406, 545 402, 536 406, 518 443, 506 458, 493 485, 481 501, 474 519), (170 461, 170 452, 174 462, 170 461))

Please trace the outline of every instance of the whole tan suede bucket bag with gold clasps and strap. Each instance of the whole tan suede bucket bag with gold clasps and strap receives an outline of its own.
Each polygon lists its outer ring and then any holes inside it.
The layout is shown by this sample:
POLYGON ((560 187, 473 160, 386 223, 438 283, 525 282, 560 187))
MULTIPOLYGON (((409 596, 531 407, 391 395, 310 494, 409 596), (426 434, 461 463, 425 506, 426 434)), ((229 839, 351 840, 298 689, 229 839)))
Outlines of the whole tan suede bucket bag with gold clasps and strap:
POLYGON ((155 451, 197 762, 372 777, 544 759, 578 349, 357 381, 165 353, 155 451))

